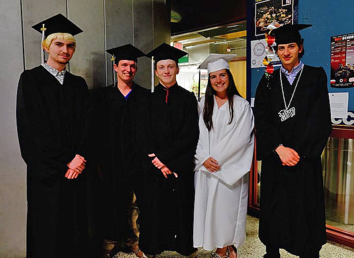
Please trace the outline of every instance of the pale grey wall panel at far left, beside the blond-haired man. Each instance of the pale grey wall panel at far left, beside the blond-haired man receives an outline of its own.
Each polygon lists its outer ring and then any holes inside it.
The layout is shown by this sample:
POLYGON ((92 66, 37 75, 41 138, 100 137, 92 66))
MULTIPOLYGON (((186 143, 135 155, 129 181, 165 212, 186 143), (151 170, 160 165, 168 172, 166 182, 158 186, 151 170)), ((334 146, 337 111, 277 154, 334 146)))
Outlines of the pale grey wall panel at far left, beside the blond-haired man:
POLYGON ((24 69, 19 0, 1 0, 0 24, 0 257, 25 257, 26 166, 16 132, 16 89, 24 69))

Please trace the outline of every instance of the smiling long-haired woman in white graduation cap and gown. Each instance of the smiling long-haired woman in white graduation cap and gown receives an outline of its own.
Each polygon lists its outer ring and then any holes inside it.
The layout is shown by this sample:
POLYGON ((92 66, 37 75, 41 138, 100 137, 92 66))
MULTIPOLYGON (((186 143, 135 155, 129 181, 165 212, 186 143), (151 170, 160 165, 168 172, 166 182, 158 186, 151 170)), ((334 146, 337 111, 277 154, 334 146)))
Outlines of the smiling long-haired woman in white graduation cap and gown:
POLYGON ((193 242, 217 248, 213 258, 236 258, 245 238, 254 120, 230 72, 235 56, 210 54, 200 65, 209 78, 198 105, 193 242))

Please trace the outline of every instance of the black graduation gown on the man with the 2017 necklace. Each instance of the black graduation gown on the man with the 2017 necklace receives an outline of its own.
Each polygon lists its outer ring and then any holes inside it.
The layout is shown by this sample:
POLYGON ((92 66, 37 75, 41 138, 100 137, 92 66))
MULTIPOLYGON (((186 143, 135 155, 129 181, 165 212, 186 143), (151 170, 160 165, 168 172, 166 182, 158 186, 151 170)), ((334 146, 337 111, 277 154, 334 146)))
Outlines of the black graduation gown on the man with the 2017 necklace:
MULTIPOLYGON (((291 86, 282 74, 288 105, 300 72, 291 86)), ((284 110, 279 70, 267 84, 261 79, 255 99, 257 159, 262 160, 259 237, 304 256, 326 242, 321 153, 331 132, 327 77, 322 67, 303 67, 293 101, 295 116, 281 122, 284 110), (300 161, 282 166, 273 150, 280 143, 295 149, 300 161)))

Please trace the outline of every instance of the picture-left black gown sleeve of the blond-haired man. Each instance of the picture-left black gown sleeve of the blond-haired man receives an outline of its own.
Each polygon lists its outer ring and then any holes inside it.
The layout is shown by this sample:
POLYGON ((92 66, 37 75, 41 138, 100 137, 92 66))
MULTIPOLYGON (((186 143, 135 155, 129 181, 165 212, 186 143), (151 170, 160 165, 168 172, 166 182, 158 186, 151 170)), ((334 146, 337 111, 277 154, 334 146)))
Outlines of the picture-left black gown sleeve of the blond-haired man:
POLYGON ((21 155, 39 178, 66 172, 66 165, 75 153, 63 147, 51 128, 50 117, 43 107, 43 98, 30 71, 21 74, 17 90, 17 131, 21 155))

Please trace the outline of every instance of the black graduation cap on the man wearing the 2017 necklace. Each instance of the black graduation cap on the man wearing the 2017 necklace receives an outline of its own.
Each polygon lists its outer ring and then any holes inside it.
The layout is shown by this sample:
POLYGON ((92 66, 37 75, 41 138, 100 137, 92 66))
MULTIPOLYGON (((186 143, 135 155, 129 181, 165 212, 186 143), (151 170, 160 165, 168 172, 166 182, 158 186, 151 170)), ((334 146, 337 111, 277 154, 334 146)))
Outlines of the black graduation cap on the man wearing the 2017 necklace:
POLYGON ((286 24, 277 29, 273 29, 270 35, 275 37, 275 43, 289 44, 301 40, 299 30, 312 26, 311 24, 286 24))

